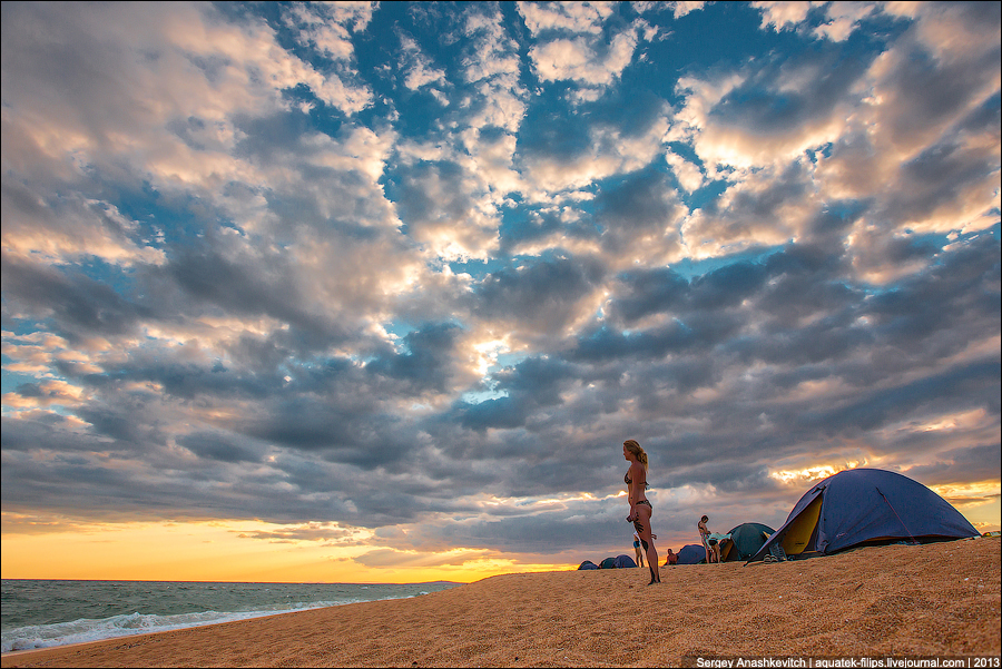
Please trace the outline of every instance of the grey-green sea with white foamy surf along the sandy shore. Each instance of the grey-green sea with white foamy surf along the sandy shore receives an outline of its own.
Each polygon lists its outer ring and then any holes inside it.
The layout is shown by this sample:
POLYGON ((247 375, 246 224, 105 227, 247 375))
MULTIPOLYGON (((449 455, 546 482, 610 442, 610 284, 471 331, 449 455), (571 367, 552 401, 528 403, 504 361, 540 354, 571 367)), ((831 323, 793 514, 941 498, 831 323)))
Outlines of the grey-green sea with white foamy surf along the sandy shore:
POLYGON ((3 579, 2 652, 147 634, 363 601, 421 597, 428 583, 212 583, 3 579))

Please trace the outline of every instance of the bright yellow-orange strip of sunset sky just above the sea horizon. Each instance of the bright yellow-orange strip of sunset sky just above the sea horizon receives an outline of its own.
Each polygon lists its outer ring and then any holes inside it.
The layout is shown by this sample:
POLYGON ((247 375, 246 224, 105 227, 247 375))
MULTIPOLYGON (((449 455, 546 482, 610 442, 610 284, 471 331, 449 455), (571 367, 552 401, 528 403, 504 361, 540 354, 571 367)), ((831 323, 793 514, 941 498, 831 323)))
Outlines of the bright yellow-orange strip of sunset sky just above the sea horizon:
MULTIPOLYGON (((10 514, 4 514, 6 516, 10 514)), ((259 522, 95 523, 55 532, 4 532, 2 578, 108 581, 469 583, 492 575, 567 569, 528 564, 483 550, 396 551, 281 539, 286 525, 259 522), (266 537, 272 535, 271 539, 266 537), (399 563, 358 558, 385 550, 399 563), (463 555, 466 555, 465 558, 463 555), (68 555, 72 555, 68 559, 68 555)), ((369 533, 371 534, 371 533, 369 533)))

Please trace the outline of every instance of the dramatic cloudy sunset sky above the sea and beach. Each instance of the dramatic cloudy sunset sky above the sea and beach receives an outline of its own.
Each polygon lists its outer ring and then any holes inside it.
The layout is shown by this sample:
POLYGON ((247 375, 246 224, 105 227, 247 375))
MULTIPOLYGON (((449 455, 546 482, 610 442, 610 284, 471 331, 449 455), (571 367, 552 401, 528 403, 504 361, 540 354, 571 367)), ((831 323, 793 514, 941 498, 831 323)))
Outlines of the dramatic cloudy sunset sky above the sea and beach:
POLYGON ((998 2, 3 2, 2 138, 4 577, 999 528, 998 2))

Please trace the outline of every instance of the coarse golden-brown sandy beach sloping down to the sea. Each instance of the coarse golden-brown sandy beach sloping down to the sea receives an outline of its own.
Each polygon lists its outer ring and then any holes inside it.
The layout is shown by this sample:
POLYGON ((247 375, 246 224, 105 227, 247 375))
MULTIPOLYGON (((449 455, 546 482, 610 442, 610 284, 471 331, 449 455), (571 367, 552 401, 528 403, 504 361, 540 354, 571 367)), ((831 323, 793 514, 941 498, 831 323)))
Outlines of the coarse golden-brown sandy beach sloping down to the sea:
POLYGON ((414 599, 10 653, 2 666, 651 667, 1002 649, 999 539, 661 574, 652 587, 646 569, 499 575, 414 599))

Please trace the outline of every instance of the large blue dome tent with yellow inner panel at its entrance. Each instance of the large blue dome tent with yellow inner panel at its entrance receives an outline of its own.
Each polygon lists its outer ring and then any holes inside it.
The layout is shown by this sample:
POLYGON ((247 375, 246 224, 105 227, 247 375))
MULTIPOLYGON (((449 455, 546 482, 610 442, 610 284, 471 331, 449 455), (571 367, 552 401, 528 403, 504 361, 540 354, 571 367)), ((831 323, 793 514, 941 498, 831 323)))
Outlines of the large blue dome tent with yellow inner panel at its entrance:
POLYGON ((845 470, 808 490, 748 562, 775 554, 831 555, 859 545, 976 535, 967 519, 917 481, 885 470, 845 470))

